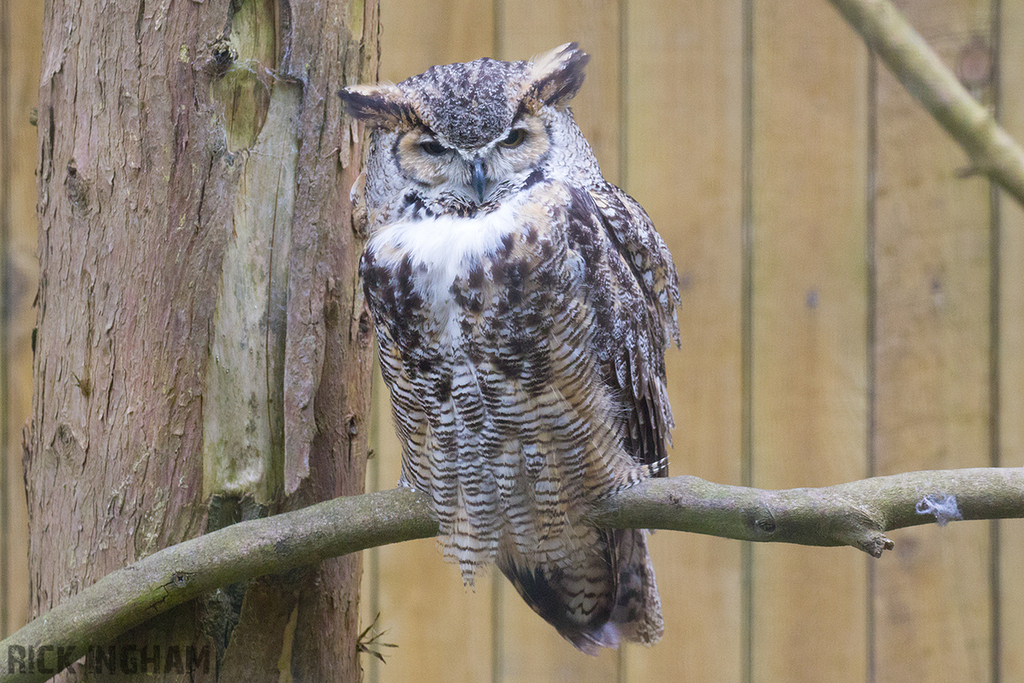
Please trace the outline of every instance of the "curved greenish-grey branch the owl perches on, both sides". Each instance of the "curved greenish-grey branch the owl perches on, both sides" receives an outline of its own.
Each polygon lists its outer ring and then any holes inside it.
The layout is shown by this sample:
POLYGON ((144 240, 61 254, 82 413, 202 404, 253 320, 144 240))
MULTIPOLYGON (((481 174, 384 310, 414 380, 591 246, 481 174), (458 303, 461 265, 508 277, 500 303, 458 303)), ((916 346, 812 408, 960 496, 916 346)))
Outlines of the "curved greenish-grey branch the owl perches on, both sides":
MULTIPOLYGON (((823 488, 762 490, 692 476, 648 479, 591 515, 599 526, 663 528, 730 539, 853 546, 879 557, 885 531, 938 520, 1024 517, 1024 468, 911 472, 823 488)), ((408 488, 339 498, 241 522, 114 571, 0 642, 0 681, 52 673, 8 671, 10 648, 51 646, 66 661, 150 617, 221 586, 282 573, 358 550, 437 533, 426 496, 408 488)), ((50 654, 48 666, 52 666, 50 654)), ((15 657, 16 659, 16 657, 15 657)))

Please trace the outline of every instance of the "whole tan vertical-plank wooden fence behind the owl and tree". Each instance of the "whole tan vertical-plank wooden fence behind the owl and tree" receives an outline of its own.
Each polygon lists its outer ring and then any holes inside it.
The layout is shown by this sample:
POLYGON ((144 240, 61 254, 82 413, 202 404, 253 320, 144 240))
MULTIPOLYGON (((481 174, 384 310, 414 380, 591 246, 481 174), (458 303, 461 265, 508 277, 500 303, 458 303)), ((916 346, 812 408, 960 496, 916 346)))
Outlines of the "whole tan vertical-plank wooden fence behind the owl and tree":
MULTIPOLYGON (((605 176, 679 268, 672 472, 761 487, 1024 465, 1024 212, 825 0, 382 0, 381 77, 575 40, 573 110, 605 176)), ((1024 140, 1024 3, 899 7, 1024 140)), ((25 618, 20 425, 35 291, 35 0, 0 0, 0 335, 7 461, 0 629, 25 618)), ((377 385, 371 487, 397 480, 377 385)), ((662 531, 653 648, 578 653, 498 578, 462 588, 434 543, 366 554, 383 681, 1024 681, 1024 523, 852 549, 662 531)))

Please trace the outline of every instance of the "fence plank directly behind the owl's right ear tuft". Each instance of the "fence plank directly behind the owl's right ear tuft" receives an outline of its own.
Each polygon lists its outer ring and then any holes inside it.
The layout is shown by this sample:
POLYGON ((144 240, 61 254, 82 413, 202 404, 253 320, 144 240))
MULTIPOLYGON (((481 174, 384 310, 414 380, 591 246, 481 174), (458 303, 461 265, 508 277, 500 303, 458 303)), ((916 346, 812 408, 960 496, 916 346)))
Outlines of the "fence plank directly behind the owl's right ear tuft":
MULTIPOLYGON (((552 3, 505 0, 497 17, 499 54, 528 59, 575 41, 591 55, 587 80, 572 101, 572 112, 601 165, 605 177, 618 178, 621 103, 620 7, 617 0, 552 3)), ((498 680, 614 681, 618 653, 590 657, 573 648, 545 624, 504 579, 499 583, 501 613, 497 621, 500 650, 498 680)))

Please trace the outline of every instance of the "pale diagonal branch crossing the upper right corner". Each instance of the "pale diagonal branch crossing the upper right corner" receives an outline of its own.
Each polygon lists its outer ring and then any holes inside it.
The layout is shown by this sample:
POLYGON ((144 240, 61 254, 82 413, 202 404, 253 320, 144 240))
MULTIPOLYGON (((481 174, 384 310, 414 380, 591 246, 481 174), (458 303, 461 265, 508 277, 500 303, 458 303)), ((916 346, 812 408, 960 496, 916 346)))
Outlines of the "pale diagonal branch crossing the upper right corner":
POLYGON ((971 157, 1024 206, 1024 151, 888 0, 829 0, 971 157))

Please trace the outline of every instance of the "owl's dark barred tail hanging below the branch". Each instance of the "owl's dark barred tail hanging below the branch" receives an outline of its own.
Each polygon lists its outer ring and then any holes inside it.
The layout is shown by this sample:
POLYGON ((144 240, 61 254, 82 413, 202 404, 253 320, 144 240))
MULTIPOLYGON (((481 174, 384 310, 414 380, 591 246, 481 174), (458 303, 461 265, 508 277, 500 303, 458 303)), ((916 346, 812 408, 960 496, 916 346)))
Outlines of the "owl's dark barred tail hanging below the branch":
POLYGON ((601 529, 563 564, 532 564, 499 555, 498 564, 526 603, 587 654, 622 641, 652 645, 662 638, 662 603, 646 531, 601 529))

